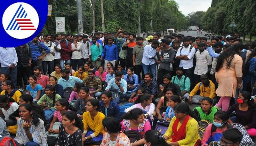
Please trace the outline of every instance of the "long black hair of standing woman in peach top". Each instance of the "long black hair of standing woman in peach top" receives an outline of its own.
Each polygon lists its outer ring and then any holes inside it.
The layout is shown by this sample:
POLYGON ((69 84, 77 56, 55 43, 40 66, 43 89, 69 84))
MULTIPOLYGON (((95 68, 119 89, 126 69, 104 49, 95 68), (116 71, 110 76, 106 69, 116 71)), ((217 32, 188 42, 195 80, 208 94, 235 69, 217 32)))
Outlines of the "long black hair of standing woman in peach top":
MULTIPOLYGON (((236 43, 233 45, 233 47, 228 47, 226 51, 222 52, 220 56, 218 57, 217 64, 216 64, 216 72, 220 70, 220 68, 223 66, 223 63, 227 61, 227 68, 230 67, 231 62, 234 58, 235 54, 240 54, 239 50, 241 49, 240 43, 236 43)), ((243 44, 242 44, 243 45, 243 44)))

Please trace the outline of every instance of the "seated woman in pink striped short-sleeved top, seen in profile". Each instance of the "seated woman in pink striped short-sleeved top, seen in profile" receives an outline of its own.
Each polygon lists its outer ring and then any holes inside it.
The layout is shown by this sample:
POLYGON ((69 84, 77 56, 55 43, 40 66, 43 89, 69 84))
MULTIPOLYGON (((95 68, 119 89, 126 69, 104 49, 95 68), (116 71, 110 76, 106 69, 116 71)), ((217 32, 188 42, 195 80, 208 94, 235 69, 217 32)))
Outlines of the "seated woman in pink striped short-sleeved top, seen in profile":
POLYGON ((59 124, 60 125, 60 122, 62 121, 62 116, 61 115, 64 112, 74 111, 75 109, 74 109, 74 107, 72 105, 70 105, 68 103, 68 100, 64 99, 64 98, 56 101, 55 107, 56 107, 56 111, 53 114, 53 119, 52 119, 52 122, 50 124, 50 128, 48 130, 48 133, 59 134, 59 126, 57 126, 57 128, 55 128, 54 125, 55 124, 59 124))

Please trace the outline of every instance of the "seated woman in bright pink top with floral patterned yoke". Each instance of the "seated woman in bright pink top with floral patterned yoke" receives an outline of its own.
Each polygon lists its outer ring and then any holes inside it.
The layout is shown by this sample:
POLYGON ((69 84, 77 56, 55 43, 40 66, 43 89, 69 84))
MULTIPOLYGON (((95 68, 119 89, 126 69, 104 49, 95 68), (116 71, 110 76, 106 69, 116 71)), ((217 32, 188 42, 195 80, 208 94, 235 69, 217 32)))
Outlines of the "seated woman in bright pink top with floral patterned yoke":
MULTIPOLYGON (((129 113, 124 115, 123 121, 121 121, 122 129, 124 133, 128 130, 138 131, 144 138, 145 132, 151 130, 151 125, 148 119, 145 118, 141 109, 132 109, 129 113)), ((137 142, 132 143, 132 146, 144 144, 144 139, 140 139, 137 142)))

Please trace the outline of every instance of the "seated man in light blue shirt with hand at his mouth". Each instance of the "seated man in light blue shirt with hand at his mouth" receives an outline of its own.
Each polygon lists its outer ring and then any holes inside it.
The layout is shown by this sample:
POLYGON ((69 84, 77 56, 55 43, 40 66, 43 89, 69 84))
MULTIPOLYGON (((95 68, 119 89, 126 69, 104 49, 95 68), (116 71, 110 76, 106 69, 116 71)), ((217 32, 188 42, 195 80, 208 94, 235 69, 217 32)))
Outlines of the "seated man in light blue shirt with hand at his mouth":
POLYGON ((121 99, 126 99, 127 98, 127 95, 126 95, 127 82, 124 79, 122 79, 122 75, 123 74, 121 72, 117 71, 115 73, 115 78, 111 79, 108 82, 108 86, 106 87, 106 91, 117 90, 118 93, 120 94, 120 98, 121 99))

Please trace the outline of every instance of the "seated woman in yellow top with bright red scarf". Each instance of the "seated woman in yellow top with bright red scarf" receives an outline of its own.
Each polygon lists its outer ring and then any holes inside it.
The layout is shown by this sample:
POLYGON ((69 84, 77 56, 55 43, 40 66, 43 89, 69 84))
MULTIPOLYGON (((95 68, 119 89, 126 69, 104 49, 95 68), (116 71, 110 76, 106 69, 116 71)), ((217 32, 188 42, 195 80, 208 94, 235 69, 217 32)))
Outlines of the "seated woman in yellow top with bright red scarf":
POLYGON ((180 103, 174 107, 175 117, 164 134, 164 139, 174 146, 200 146, 198 123, 188 104, 180 103))

